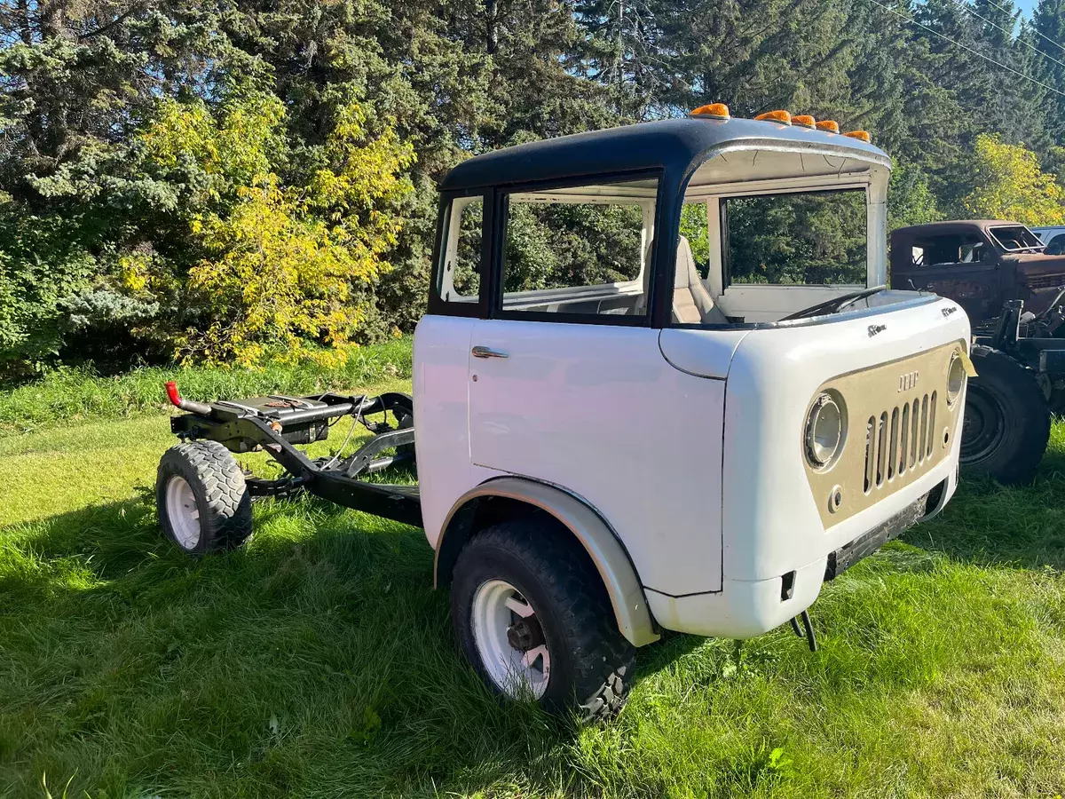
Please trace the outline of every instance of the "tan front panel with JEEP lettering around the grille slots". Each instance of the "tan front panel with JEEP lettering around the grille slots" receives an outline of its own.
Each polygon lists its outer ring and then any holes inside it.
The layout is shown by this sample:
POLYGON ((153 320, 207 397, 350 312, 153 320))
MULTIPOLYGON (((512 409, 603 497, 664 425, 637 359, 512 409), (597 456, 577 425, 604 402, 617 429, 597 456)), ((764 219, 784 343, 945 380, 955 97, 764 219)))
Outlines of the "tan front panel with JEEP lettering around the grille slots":
MULTIPOLYGON (((947 405, 947 373, 961 342, 829 380, 847 407, 842 452, 829 469, 803 461, 821 520, 831 526, 917 479, 947 457, 961 403, 947 405), (890 397, 888 399, 888 397, 890 397), (842 496, 833 510, 831 498, 842 496)), ((813 402, 813 401, 812 401, 813 402)))

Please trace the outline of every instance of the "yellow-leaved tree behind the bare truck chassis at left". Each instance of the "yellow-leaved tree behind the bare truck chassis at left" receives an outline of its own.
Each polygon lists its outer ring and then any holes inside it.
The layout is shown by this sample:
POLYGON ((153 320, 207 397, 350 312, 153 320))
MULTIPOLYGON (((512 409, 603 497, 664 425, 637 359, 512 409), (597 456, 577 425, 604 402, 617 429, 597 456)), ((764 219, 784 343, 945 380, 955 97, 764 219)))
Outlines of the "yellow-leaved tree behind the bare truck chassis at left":
POLYGON ((368 140, 364 121, 358 103, 342 105, 317 168, 286 184, 284 109, 276 97, 243 94, 216 114, 202 102, 163 103, 142 136, 146 157, 192 176, 198 211, 189 228, 203 251, 183 287, 202 323, 175 337, 180 358, 250 365, 266 354, 345 357, 411 191, 402 177, 411 147, 391 129, 368 140))

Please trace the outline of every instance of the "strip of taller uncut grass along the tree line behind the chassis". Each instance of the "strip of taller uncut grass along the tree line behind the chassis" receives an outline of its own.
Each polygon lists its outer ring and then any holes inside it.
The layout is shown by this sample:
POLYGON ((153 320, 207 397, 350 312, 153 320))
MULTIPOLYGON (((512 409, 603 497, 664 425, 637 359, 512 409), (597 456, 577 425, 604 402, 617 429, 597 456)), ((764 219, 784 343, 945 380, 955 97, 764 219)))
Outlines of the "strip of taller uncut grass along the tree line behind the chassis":
POLYGON ((309 362, 268 363, 262 369, 153 366, 116 377, 59 370, 40 380, 0 390, 0 437, 55 424, 158 413, 168 407, 163 388, 167 380, 177 380, 187 397, 211 401, 266 393, 350 391, 351 387, 409 379, 410 375, 410 338, 362 347, 335 368, 309 362))

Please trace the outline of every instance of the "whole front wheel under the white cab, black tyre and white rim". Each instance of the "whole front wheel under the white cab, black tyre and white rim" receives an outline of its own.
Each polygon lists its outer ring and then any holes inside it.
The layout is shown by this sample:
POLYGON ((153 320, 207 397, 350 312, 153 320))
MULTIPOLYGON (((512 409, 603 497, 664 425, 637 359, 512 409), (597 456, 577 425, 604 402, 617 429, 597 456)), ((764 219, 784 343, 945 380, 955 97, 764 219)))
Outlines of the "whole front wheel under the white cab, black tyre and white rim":
POLYGON ((489 687, 552 712, 608 718, 625 702, 635 649, 618 632, 599 572, 543 517, 504 522, 459 554, 452 623, 489 687))

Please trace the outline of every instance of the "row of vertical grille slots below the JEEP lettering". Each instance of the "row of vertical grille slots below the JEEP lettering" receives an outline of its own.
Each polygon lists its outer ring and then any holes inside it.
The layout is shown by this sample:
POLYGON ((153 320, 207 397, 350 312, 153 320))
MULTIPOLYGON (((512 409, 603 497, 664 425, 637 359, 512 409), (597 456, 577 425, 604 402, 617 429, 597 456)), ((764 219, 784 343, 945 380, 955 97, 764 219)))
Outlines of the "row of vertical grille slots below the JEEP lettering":
POLYGON ((867 494, 897 476, 916 474, 932 464, 938 398, 938 391, 915 396, 866 421, 863 488, 867 494))

